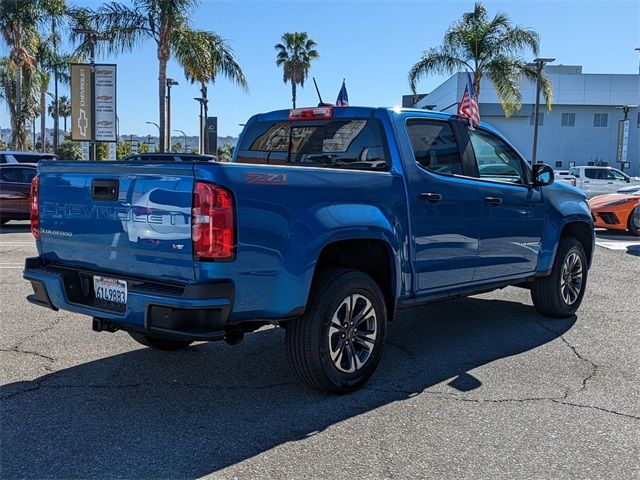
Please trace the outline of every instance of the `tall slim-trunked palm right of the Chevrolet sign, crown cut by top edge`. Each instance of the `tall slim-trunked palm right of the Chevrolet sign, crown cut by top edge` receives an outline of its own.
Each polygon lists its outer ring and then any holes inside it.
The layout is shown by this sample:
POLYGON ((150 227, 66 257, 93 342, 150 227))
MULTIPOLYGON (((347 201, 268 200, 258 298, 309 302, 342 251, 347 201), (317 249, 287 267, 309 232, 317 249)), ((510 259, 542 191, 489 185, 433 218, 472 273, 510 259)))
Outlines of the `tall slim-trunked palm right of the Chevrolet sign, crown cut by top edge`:
MULTIPOLYGON (((158 106, 160 124, 160 151, 166 150, 166 79, 167 62, 172 54, 178 63, 183 58, 176 51, 198 50, 197 43, 207 38, 206 45, 220 45, 219 37, 210 32, 195 31, 189 24, 191 10, 198 0, 133 0, 132 6, 110 2, 96 11, 84 9, 77 15, 82 21, 89 22, 96 30, 108 35, 107 51, 117 53, 128 51, 144 39, 152 38, 156 43, 158 57, 158 106)), ((239 67, 238 67, 239 68, 239 67)), ((229 76, 229 75, 227 75, 229 76)), ((244 76, 237 77, 237 83, 246 84, 244 76)))

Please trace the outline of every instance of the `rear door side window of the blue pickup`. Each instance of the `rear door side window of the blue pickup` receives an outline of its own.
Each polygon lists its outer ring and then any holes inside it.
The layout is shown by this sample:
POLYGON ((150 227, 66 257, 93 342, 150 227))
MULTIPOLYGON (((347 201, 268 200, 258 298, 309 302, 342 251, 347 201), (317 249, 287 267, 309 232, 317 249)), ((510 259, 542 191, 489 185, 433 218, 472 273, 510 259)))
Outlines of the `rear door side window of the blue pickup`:
POLYGON ((407 130, 416 162, 432 172, 462 174, 458 144, 448 123, 410 119, 407 130))

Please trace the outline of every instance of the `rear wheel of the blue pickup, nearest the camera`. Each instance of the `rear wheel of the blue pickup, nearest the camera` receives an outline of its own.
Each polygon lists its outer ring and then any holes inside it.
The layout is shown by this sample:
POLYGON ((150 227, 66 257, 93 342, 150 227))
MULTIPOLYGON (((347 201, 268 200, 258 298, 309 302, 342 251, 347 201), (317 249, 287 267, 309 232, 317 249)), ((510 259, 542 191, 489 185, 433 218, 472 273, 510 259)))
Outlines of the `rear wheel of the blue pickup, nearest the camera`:
POLYGON ((365 273, 331 268, 314 282, 310 298, 305 315, 290 321, 286 330, 296 375, 316 390, 348 393, 360 388, 382 355, 384 295, 365 273))

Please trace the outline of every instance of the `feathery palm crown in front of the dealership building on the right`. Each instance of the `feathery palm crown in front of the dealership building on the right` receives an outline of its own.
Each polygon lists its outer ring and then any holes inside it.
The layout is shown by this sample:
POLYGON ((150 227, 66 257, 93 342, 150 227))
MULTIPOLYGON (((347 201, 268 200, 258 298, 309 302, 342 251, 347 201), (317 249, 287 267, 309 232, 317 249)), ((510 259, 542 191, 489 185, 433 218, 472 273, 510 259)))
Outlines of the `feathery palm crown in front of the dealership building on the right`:
MULTIPOLYGON (((539 37, 533 30, 513 26, 504 13, 493 19, 487 17, 487 9, 476 3, 473 12, 465 13, 444 36, 442 46, 425 51, 409 71, 409 85, 416 95, 416 84, 430 73, 455 73, 466 70, 473 74, 476 95, 480 95, 481 80, 487 77, 493 84, 502 103, 505 116, 509 117, 522 107, 522 95, 518 81, 536 81, 535 67, 518 56, 523 50, 538 54, 539 37)), ((542 91, 551 109, 553 90, 542 73, 542 91)))

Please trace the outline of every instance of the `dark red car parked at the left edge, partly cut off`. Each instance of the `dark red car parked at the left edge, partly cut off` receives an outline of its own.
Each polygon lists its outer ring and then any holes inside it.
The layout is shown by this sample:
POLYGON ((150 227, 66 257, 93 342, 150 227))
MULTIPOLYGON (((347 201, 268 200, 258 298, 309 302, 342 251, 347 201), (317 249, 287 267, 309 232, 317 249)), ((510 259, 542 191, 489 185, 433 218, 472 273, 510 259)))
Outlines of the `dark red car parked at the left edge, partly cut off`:
POLYGON ((31 181, 38 174, 32 163, 0 164, 0 223, 29 220, 31 181))

